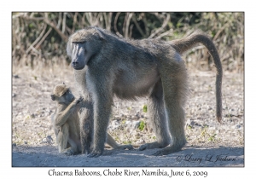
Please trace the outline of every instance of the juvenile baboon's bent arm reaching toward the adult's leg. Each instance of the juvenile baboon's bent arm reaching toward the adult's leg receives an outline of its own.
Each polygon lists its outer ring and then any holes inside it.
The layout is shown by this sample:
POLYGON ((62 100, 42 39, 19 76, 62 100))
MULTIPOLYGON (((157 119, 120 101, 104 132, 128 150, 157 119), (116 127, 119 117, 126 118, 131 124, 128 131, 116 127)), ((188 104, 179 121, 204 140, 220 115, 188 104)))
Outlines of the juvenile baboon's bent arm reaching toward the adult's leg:
POLYGON ((61 127, 63 124, 67 122, 67 118, 69 118, 70 114, 73 113, 76 107, 76 103, 72 102, 68 107, 65 105, 61 105, 58 107, 56 115, 55 115, 55 126, 61 127))

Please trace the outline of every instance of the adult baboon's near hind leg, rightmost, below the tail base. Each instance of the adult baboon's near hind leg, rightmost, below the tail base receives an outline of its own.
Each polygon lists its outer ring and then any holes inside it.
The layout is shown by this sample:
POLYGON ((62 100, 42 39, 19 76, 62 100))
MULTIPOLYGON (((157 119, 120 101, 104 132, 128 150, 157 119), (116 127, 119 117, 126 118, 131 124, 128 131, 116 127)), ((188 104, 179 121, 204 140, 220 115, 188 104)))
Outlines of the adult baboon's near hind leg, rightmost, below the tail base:
POLYGON ((161 72, 163 72, 161 74, 161 80, 172 143, 171 146, 157 151, 154 155, 166 155, 178 152, 186 143, 183 105, 187 95, 187 72, 183 61, 174 61, 169 68, 168 65, 166 64, 161 69, 161 72))

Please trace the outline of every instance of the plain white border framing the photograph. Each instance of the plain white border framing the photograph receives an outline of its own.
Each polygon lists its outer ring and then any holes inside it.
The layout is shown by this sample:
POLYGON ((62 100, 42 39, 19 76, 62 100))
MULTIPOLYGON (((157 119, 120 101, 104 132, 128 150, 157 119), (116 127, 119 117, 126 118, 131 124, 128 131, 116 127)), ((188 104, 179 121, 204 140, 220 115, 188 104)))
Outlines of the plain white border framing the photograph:
MULTIPOLYGON (((252 1, 250 1, 252 2, 252 1)), ((3 101, 0 103, 1 112, 1 130, 0 136, 2 138, 1 145, 1 162, 0 162, 0 178, 7 178, 12 176, 26 176, 26 178, 45 178, 48 176, 50 168, 12 168, 11 167, 11 12, 13 11, 241 11, 245 12, 245 126, 246 126, 246 150, 245 150, 245 168, 202 168, 207 170, 209 176, 207 178, 216 178, 216 176, 231 178, 233 176, 244 177, 253 176, 255 160, 255 138, 253 131, 255 131, 255 91, 256 84, 255 74, 255 9, 253 3, 245 1, 8 1, 8 3, 1 3, 1 54, 2 67, 0 70, 1 77, 1 96, 3 101), (253 115, 254 114, 254 115, 253 115), (6 177, 1 177, 6 176, 6 177)), ((93 170, 93 168, 90 168, 93 170)), ((132 168, 131 168, 132 169, 132 168)), ((135 168, 136 169, 136 168, 135 168)), ((178 168, 185 170, 186 168, 178 168)), ((196 170, 199 168, 189 168, 196 170)), ((58 168, 61 170, 61 168, 58 168)), ((63 168, 63 170, 73 170, 73 168, 63 168)), ((96 168, 95 170, 103 170, 103 168, 96 168)), ((138 169, 137 170, 141 170, 138 169)), ((82 176, 86 177, 86 176, 82 176)), ((124 177, 124 176, 123 176, 124 177)), ((108 177, 111 178, 111 177, 108 177)))

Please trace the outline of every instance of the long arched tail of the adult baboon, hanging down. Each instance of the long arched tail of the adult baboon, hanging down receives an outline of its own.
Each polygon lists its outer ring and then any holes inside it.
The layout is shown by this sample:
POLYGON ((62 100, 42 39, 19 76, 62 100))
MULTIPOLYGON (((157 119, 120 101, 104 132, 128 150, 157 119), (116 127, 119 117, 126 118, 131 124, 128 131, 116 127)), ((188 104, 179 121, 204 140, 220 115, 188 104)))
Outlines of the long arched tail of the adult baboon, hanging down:
POLYGON ((221 84, 222 84, 222 66, 218 56, 218 51, 215 45, 212 43, 212 40, 207 37, 203 32, 194 32, 189 37, 183 39, 173 40, 171 42, 172 47, 177 50, 179 54, 183 54, 184 51, 191 49, 195 46, 196 43, 202 43, 207 47, 208 51, 212 55, 214 64, 217 68, 216 74, 216 116, 218 122, 221 122, 222 119, 222 93, 221 93, 221 84))

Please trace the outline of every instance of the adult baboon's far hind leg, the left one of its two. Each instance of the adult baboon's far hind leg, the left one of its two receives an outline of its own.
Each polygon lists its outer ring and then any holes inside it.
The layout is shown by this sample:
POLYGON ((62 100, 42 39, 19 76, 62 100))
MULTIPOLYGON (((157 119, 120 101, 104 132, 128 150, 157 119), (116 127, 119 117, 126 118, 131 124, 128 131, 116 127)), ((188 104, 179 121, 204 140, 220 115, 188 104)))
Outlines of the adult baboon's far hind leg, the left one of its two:
POLYGON ((166 147, 171 142, 171 136, 166 121, 165 105, 163 101, 163 88, 161 80, 154 86, 154 90, 149 97, 149 113, 151 125, 156 135, 156 140, 139 147, 139 150, 166 147))

